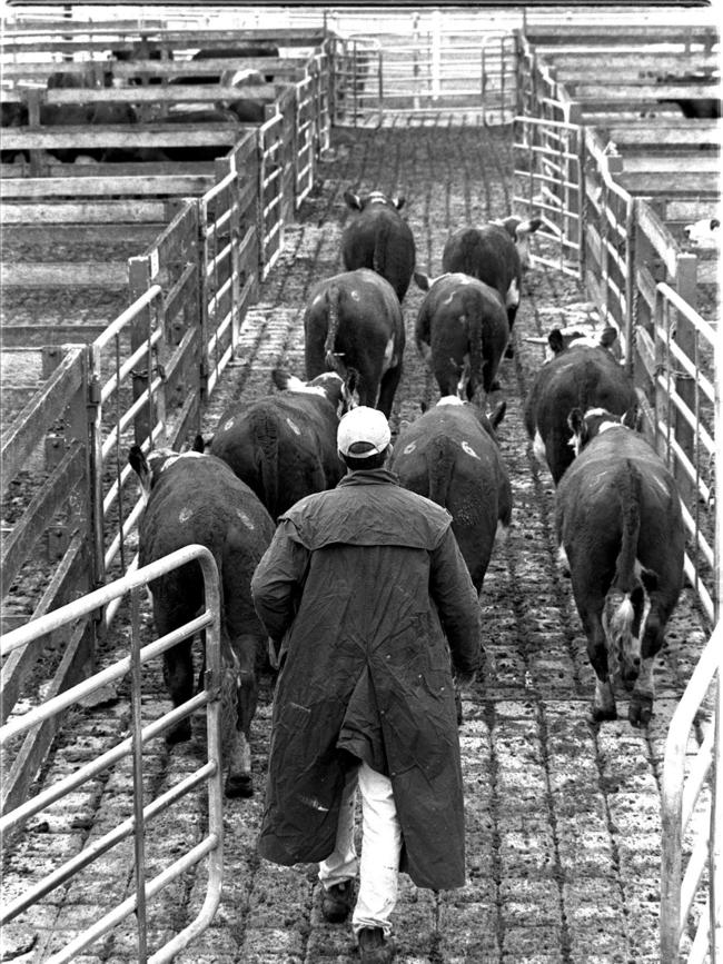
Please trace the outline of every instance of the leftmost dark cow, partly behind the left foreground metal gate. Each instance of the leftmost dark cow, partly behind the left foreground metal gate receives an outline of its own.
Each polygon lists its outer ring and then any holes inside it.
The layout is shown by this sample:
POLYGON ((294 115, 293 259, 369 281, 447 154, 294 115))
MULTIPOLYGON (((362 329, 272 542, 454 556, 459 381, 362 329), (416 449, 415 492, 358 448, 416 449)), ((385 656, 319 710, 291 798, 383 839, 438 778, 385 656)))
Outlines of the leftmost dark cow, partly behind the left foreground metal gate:
MULTIPOLYGON (((235 728, 222 734, 228 767, 227 796, 250 796, 249 731, 256 710, 257 660, 267 652, 267 636, 251 602, 251 575, 274 535, 274 521, 251 489, 211 455, 170 449, 148 458, 132 446, 128 460, 137 473, 146 501, 139 526, 139 563, 146 566, 195 543, 216 560, 221 590, 221 653, 226 683, 236 699, 235 728)), ((150 584, 153 619, 159 636, 192 619, 204 605, 204 579, 198 563, 188 563, 150 584)), ((174 706, 194 693, 191 639, 164 655, 164 676, 174 706)), ((222 687, 225 690, 227 686, 222 687)), ((190 720, 182 719, 166 739, 189 739, 190 720)))

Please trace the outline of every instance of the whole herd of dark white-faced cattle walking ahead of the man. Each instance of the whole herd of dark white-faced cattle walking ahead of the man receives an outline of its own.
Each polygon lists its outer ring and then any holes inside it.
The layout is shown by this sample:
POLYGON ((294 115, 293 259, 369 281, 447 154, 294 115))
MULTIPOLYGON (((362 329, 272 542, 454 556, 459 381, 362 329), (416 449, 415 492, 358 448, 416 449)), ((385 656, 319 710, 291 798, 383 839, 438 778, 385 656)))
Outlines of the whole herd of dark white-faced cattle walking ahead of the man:
MULTIPOLYGON (((501 219, 454 232, 444 274, 415 272, 415 242, 404 198, 345 193, 353 217, 340 242, 345 270, 319 281, 304 316, 306 380, 273 375, 276 391, 225 411, 212 438, 194 450, 143 455, 131 466, 147 506, 140 563, 200 543, 221 583, 225 665, 237 687, 235 733, 227 734, 228 795, 247 796, 255 673, 267 658, 254 613, 250 577, 274 533, 274 519, 304 496, 334 487, 344 466, 336 451, 339 417, 357 404, 389 416, 402 376, 402 302, 414 277, 426 291, 416 348, 440 398, 403 425, 390 468, 402 485, 443 505, 453 519, 477 592, 495 538, 512 518, 508 470, 496 438, 505 415, 497 369, 512 354, 511 332, 538 219, 501 219)), ((598 338, 554 329, 552 358, 528 392, 525 425, 533 450, 556 486, 559 557, 587 637, 596 675, 592 716, 616 716, 613 682, 631 690, 628 719, 653 710, 653 660, 682 589, 684 529, 671 474, 638 431, 636 395, 616 352, 616 331, 598 338)), ((201 605, 197 564, 151 584, 159 634, 201 605)), ((190 644, 166 657, 176 706, 192 689, 190 644)), ((169 742, 187 739, 179 724, 169 742)))

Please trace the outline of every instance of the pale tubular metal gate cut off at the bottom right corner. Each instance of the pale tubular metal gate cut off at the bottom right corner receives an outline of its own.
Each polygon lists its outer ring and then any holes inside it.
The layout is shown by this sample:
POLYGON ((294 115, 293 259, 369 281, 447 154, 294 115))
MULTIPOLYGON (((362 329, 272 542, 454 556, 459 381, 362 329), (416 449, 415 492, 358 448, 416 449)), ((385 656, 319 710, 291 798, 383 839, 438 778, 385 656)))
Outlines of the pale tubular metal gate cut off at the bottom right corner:
POLYGON ((665 743, 661 793, 661 964, 680 961, 689 914, 701 887, 706 887, 707 897, 686 960, 689 964, 720 960, 723 772, 720 757, 715 758, 715 747, 721 746, 723 738, 722 669, 723 624, 719 624, 675 708, 665 743), (701 745, 695 739, 696 751, 691 753, 691 732, 702 726, 699 714, 706 703, 713 705, 714 720, 705 725, 701 745), (692 831, 694 823, 697 833, 692 831), (701 826, 707 826, 706 835, 701 833, 701 826), (685 867, 684 847, 689 851, 685 867))

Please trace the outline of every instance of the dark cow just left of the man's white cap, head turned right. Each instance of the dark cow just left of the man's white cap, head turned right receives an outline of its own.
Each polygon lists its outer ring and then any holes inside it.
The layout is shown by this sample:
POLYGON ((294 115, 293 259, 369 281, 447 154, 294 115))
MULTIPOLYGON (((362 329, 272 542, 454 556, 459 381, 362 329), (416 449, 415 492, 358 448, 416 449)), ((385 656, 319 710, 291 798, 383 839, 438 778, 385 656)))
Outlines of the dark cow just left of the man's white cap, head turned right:
POLYGON ((210 451, 277 518, 304 496, 334 488, 344 475, 336 431, 346 394, 335 371, 308 384, 281 370, 271 377, 280 390, 225 413, 210 451))

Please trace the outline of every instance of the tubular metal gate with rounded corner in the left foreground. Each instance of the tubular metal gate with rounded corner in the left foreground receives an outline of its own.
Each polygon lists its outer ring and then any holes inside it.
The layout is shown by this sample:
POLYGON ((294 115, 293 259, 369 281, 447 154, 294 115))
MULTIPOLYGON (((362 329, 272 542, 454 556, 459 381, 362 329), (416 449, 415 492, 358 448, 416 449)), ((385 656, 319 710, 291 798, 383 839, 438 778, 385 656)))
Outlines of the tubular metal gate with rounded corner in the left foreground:
MULTIPOLYGON (((221 759, 221 692, 222 669, 220 652, 220 586, 218 569, 211 553, 202 546, 188 546, 179 549, 153 563, 138 569, 136 573, 123 576, 93 593, 77 599, 53 613, 29 623, 2 637, 0 653, 3 657, 32 648, 37 650, 40 643, 50 634, 66 634, 68 627, 85 624, 93 614, 103 609, 109 604, 130 596, 133 618, 131 619, 130 655, 112 666, 96 673, 93 676, 72 686, 62 694, 52 694, 52 697, 43 702, 41 706, 29 710, 14 719, 10 719, 0 728, 0 747, 12 745, 22 734, 30 734, 34 727, 50 723, 57 728, 59 719, 67 710, 76 705, 79 699, 88 697, 103 686, 120 680, 125 677, 133 678, 133 699, 131 700, 131 735, 120 739, 115 747, 90 763, 79 766, 63 779, 53 784, 50 788, 34 797, 22 797, 14 801, 7 808, 3 806, 0 818, 0 831, 3 836, 22 827, 24 822, 46 809, 51 804, 61 799, 69 793, 86 785, 89 781, 98 777, 111 766, 122 765, 122 762, 132 761, 132 806, 126 819, 117 824, 100 837, 70 857, 60 867, 46 875, 38 875, 34 881, 29 881, 29 887, 24 894, 7 903, 0 912, 0 924, 13 920, 27 907, 41 896, 81 874, 90 867, 89 876, 92 879, 92 864, 112 847, 122 844, 128 838, 133 839, 135 849, 135 894, 105 913, 100 920, 81 932, 63 950, 48 958, 52 964, 63 964, 72 961, 85 948, 107 934, 117 924, 133 914, 138 926, 138 956, 139 964, 147 961, 152 964, 172 961, 174 957, 186 947, 195 936, 201 933, 210 923, 220 902, 222 882, 222 759, 221 759), (172 633, 146 645, 140 640, 140 622, 138 618, 138 593, 139 589, 148 588, 149 584, 165 573, 184 565, 199 565, 204 577, 205 608, 190 623, 186 623, 172 633), (141 708, 140 695, 142 688, 142 667, 157 659, 180 640, 192 638, 198 632, 204 630, 206 636, 206 662, 204 674, 204 688, 190 700, 175 707, 162 715, 149 714, 141 708), (146 803, 148 797, 147 781, 143 781, 143 747, 152 739, 158 738, 169 727, 192 712, 206 708, 206 735, 207 735, 207 762, 196 771, 189 773, 182 781, 167 789, 160 796, 156 796, 146 803), (152 715, 152 718, 149 716, 152 715), (148 869, 146 862, 146 836, 148 828, 152 827, 152 821, 171 806, 179 803, 191 792, 206 784, 208 794, 208 829, 185 854, 178 856, 172 864, 151 879, 147 878, 148 869), (198 916, 179 934, 167 941, 151 956, 148 954, 148 921, 150 904, 156 894, 172 881, 179 878, 190 867, 207 858, 208 883, 204 904, 198 916)), ((176 809, 178 814, 178 808, 176 809)), ((7 838, 7 837, 6 837, 7 838)), ((29 875, 30 876, 30 875, 29 875)), ((166 922, 162 922, 166 926, 166 922)))

